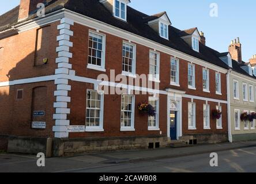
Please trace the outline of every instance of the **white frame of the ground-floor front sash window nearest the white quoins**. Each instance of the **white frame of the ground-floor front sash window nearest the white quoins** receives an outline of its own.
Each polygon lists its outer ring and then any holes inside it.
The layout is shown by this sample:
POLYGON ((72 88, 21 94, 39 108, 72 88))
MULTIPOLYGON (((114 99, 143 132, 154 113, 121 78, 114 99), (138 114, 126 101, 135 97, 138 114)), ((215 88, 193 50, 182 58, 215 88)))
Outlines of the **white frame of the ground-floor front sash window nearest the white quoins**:
MULTIPOLYGON (((103 121, 104 121, 104 91, 97 91, 97 90, 90 90, 87 89, 86 90, 86 111, 87 111, 87 103, 88 103, 88 99, 87 99, 87 94, 88 91, 96 91, 97 93, 100 94, 100 125, 98 127, 86 127, 86 122, 85 122, 85 132, 104 132, 103 129, 103 121)), ((87 113, 87 112, 86 112, 87 113)), ((87 116, 87 115, 86 115, 87 116)), ((86 121, 86 116, 85 116, 85 121, 86 121)))

